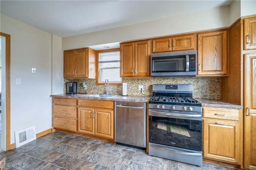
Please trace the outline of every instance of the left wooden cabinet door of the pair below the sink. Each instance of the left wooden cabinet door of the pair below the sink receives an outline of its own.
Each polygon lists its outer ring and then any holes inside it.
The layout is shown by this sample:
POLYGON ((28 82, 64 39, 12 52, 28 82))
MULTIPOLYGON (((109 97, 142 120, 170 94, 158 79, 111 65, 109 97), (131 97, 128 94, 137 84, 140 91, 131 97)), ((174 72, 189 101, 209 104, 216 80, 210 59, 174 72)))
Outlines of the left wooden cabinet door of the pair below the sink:
POLYGON ((78 107, 78 132, 94 134, 94 109, 78 107))

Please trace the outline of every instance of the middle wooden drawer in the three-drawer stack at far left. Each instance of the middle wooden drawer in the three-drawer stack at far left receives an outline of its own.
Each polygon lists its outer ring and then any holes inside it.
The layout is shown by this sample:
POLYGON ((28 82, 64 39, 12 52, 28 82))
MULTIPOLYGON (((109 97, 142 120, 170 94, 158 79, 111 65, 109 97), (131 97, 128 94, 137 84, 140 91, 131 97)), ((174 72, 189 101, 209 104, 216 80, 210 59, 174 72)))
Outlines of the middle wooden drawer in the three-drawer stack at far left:
POLYGON ((76 118, 76 107, 53 105, 53 115, 76 118))

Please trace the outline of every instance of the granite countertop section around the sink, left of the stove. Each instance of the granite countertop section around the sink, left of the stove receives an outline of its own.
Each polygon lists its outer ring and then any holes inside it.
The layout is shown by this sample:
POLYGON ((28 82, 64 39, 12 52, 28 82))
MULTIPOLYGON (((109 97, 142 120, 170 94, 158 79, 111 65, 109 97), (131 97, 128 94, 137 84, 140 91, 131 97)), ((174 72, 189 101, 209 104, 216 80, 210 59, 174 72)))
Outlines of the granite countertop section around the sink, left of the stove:
POLYGON ((59 94, 51 95, 51 97, 63 97, 63 98, 74 98, 74 99, 91 99, 91 100, 108 100, 108 101, 127 101, 127 102, 148 102, 152 96, 121 96, 116 95, 113 97, 90 97, 93 94, 59 94))

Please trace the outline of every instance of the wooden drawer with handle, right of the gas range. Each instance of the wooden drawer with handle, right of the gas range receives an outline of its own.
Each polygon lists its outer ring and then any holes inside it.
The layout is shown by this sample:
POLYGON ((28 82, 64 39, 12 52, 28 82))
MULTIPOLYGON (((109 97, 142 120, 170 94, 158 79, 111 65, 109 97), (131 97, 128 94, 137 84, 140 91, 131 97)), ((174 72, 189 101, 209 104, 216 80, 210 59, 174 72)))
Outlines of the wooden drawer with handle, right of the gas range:
POLYGON ((203 107, 203 117, 238 121, 239 110, 229 108, 203 107))

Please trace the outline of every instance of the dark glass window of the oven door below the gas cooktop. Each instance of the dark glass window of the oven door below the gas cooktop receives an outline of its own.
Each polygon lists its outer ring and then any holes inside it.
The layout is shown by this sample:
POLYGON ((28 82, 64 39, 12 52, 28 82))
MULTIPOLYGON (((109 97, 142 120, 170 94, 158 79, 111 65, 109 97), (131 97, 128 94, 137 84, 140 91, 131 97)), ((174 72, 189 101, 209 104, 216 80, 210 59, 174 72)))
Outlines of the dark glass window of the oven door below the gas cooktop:
POLYGON ((149 117, 149 142, 202 151, 202 121, 149 117))

